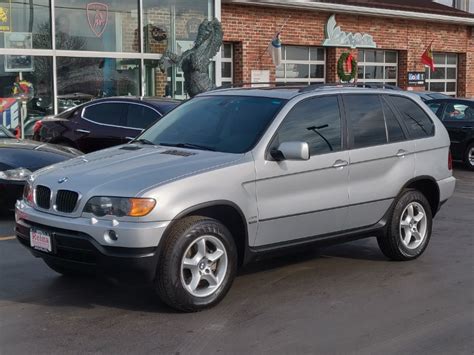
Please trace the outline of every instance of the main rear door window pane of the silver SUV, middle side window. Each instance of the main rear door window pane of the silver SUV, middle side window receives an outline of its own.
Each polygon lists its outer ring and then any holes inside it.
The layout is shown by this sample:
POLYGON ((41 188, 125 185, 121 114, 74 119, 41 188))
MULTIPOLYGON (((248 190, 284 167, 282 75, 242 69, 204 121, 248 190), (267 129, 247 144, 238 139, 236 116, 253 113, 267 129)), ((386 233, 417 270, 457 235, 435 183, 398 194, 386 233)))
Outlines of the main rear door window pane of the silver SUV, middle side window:
POLYGON ((352 127, 354 148, 387 143, 384 113, 378 95, 344 95, 344 105, 352 127))

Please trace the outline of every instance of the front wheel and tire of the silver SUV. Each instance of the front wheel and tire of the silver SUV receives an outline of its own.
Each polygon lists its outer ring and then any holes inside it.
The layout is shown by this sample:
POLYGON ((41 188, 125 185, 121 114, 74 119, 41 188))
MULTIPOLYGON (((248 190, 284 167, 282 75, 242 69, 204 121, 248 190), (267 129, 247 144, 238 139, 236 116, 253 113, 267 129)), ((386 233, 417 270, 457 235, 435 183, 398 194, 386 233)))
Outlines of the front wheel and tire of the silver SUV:
POLYGON ((215 219, 191 216, 178 221, 165 238, 155 279, 160 299, 183 312, 219 303, 237 272, 237 248, 229 230, 215 219))

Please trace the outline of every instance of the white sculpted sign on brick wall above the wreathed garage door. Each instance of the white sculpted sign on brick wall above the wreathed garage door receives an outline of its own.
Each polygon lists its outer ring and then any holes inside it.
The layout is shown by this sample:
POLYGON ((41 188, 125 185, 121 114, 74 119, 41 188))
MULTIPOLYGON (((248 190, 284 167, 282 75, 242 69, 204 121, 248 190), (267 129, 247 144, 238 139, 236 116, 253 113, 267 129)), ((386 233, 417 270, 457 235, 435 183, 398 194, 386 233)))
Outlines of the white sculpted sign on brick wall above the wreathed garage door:
POLYGON ((367 33, 344 32, 340 26, 336 26, 336 15, 331 15, 326 23, 326 39, 323 46, 328 47, 351 47, 351 48, 376 48, 377 43, 367 33))

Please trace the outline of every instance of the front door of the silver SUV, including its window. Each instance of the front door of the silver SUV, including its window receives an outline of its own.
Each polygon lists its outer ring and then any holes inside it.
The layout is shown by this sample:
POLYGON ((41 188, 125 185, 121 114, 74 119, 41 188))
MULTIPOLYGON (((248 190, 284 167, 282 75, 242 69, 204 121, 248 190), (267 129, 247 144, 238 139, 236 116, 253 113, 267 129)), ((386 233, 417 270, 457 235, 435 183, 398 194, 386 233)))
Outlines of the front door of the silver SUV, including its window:
POLYGON ((288 113, 269 150, 307 142, 310 159, 256 159, 258 232, 255 246, 291 242, 344 229, 348 161, 337 95, 301 101, 288 113))

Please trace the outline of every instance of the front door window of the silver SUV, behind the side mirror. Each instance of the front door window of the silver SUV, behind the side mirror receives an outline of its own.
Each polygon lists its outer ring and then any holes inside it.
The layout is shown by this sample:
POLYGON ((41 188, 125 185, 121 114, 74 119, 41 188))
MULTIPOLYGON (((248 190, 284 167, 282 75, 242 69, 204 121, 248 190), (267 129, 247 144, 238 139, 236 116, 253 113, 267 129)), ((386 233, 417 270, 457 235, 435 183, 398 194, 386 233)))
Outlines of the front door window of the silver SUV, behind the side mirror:
POLYGON ((296 104, 278 128, 272 146, 291 141, 307 142, 311 155, 341 150, 341 115, 337 97, 317 97, 296 104))

